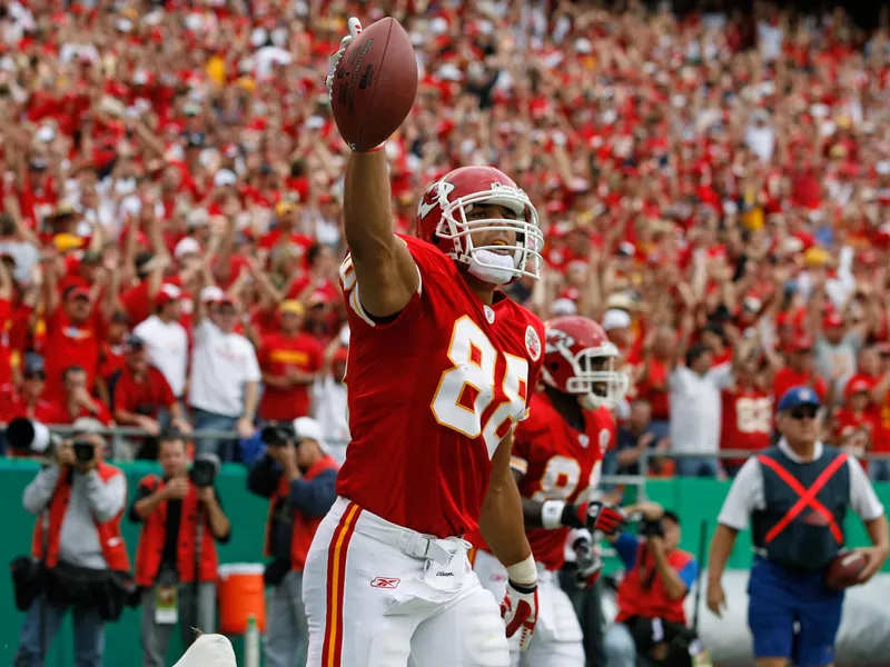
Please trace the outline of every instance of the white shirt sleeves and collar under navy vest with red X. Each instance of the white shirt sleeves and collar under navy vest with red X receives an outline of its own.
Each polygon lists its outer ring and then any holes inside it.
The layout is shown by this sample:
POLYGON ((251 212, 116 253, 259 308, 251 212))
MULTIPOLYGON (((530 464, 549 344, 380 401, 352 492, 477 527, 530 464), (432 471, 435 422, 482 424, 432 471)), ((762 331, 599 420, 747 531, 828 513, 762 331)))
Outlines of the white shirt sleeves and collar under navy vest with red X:
MULTIPOLYGON (((779 449, 792 461, 801 462, 801 458, 794 454, 784 438, 779 440, 779 449)), ((817 442, 813 460, 818 460, 823 451, 822 442, 817 442)), ((863 521, 877 519, 883 514, 883 505, 878 499, 866 471, 852 456, 847 457, 847 467, 850 469, 850 507, 863 521)), ((744 530, 748 528, 751 515, 755 510, 765 508, 763 471, 760 469, 758 458, 752 456, 739 469, 716 520, 735 530, 744 530)))

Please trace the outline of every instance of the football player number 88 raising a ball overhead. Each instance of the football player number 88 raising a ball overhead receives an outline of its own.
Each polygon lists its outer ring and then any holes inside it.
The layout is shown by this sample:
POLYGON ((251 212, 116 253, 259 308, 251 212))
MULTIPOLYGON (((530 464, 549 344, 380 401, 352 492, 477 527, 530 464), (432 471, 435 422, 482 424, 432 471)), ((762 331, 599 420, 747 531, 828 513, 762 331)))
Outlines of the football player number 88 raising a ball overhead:
POLYGON ((340 267, 352 441, 304 570, 307 664, 505 667, 506 635, 526 645, 537 616, 510 458, 544 327, 497 288, 537 278, 543 236, 491 167, 433 183, 419 238, 393 232, 390 201, 384 152, 353 152, 340 267), (476 528, 508 573, 501 608, 467 559, 462 536, 476 528))

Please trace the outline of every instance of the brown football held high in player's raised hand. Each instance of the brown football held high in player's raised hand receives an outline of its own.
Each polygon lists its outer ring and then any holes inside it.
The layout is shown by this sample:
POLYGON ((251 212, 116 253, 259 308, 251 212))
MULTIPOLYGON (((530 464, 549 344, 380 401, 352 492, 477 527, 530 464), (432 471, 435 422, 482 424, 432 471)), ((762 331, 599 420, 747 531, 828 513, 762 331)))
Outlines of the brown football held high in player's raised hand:
POLYGON ((334 72, 330 107, 353 150, 386 141, 411 112, 417 94, 417 60, 405 29, 393 18, 363 30, 334 72))

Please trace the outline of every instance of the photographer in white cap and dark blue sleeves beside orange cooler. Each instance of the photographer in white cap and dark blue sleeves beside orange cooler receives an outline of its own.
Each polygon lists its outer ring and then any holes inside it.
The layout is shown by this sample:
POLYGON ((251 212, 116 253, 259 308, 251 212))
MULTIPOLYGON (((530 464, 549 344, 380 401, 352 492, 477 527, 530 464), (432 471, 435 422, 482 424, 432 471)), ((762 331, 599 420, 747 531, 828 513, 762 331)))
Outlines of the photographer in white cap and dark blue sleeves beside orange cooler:
POLYGON ((309 417, 263 429, 265 455, 250 468, 247 488, 269 498, 265 580, 274 591, 266 614, 266 665, 306 664, 309 630, 303 606, 303 566, 318 524, 337 498, 337 461, 322 427, 309 417))

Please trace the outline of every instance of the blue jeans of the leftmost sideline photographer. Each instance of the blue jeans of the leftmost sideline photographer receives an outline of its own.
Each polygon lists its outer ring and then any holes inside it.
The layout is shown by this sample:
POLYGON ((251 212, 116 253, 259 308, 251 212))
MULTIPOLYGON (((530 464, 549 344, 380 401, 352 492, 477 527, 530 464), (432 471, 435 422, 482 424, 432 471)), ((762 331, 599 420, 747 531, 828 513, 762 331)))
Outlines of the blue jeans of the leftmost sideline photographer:
MULTIPOLYGON (((28 609, 21 627, 19 650, 12 660, 12 667, 40 667, 48 663, 46 656, 42 661, 40 660, 41 635, 44 643, 43 648, 48 651, 68 608, 44 603, 41 621, 40 605, 41 600, 37 598, 28 609)), ((71 619, 75 626, 75 667, 102 667, 105 621, 99 618, 99 613, 96 609, 75 608, 71 619)))

